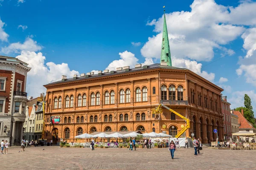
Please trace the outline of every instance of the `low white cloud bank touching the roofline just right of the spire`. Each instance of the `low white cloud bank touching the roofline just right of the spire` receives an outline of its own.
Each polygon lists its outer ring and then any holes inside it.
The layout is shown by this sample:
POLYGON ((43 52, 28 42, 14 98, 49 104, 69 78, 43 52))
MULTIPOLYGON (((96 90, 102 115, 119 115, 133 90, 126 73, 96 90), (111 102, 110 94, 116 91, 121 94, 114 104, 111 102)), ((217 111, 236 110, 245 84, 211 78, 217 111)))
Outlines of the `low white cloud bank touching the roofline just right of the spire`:
POLYGON ((180 68, 187 68, 190 71, 195 72, 196 74, 204 77, 205 79, 209 80, 210 82, 214 81, 215 74, 208 73, 207 71, 201 71, 202 64, 196 61, 191 61, 189 59, 178 59, 176 57, 172 57, 172 66, 180 67, 180 68))

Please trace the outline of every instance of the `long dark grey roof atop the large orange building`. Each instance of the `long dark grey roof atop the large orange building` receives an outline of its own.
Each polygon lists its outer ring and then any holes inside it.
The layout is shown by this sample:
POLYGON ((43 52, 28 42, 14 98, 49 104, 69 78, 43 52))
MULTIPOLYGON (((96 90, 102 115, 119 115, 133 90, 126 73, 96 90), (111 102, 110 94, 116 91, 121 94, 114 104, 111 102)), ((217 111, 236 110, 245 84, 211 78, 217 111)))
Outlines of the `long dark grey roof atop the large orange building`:
POLYGON ((123 73, 131 73, 131 72, 136 72, 136 71, 144 71, 144 70, 151 70, 151 69, 155 69, 155 68, 169 68, 169 69, 179 69, 179 70, 187 70, 186 68, 178 68, 178 67, 172 67, 172 66, 164 66, 164 65, 160 65, 159 63, 155 63, 152 65, 147 65, 147 68, 143 68, 143 67, 139 67, 139 68, 130 68, 129 71, 125 71, 125 70, 121 70, 121 71, 114 71, 114 73, 108 72, 108 73, 102 73, 102 75, 99 74, 93 74, 90 75, 89 77, 86 76, 81 76, 81 77, 77 77, 76 79, 69 78, 69 79, 65 79, 65 81, 57 81, 57 82, 51 82, 47 85, 53 85, 53 84, 58 84, 61 82, 73 82, 73 81, 78 81, 78 80, 83 80, 83 79, 92 79, 92 78, 96 78, 96 77, 105 77, 105 76, 109 76, 109 75, 117 75, 117 74, 123 74, 123 73))

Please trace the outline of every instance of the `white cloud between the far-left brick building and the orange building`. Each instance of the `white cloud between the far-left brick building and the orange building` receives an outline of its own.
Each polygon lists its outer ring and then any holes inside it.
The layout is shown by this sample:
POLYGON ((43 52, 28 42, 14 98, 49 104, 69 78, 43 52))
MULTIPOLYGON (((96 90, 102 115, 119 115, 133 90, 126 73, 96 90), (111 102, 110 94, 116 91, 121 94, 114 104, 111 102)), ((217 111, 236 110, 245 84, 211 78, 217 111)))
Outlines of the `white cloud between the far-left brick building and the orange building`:
POLYGON ((74 74, 79 75, 78 71, 70 71, 66 63, 47 62, 45 65, 44 60, 46 58, 41 52, 21 51, 21 54, 16 58, 28 63, 29 67, 32 68, 27 77, 28 87, 26 91, 29 96, 39 96, 45 91, 43 85, 61 80, 62 75, 67 75, 67 77, 73 77, 74 74))

